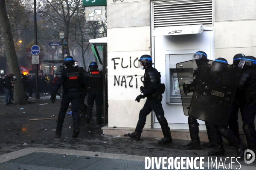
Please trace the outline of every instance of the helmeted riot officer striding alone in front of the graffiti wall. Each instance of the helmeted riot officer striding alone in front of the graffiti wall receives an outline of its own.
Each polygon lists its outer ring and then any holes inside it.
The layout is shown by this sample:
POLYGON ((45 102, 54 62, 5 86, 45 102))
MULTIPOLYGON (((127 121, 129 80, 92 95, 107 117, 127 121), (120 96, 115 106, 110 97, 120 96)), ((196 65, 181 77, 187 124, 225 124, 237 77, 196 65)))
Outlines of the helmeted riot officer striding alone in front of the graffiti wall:
POLYGON ((161 75, 157 69, 152 67, 152 58, 150 55, 143 55, 139 59, 140 66, 142 69, 145 69, 143 85, 140 89, 142 94, 137 96, 135 101, 140 102, 140 99, 147 97, 145 105, 140 110, 139 121, 137 123, 135 132, 128 133, 128 136, 134 138, 137 141, 140 141, 140 134, 142 133, 143 127, 146 122, 147 115, 153 110, 156 114, 157 120, 160 123, 160 126, 163 131, 164 138, 158 141, 159 144, 165 144, 172 142, 172 136, 170 133, 170 128, 168 122, 164 117, 164 111, 161 104, 162 94, 165 91, 163 84, 161 84, 161 75))

